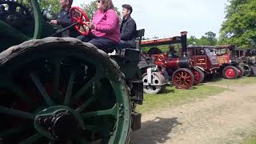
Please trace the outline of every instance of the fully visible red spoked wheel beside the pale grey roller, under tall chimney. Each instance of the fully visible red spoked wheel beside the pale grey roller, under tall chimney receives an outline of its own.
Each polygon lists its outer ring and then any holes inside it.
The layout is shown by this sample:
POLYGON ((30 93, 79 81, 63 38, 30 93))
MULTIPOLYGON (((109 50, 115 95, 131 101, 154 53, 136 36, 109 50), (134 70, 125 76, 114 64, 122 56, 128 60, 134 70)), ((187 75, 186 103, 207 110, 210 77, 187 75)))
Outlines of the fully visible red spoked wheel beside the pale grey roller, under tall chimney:
POLYGON ((173 84, 178 89, 190 89, 194 84, 194 74, 185 68, 176 70, 173 74, 173 84))

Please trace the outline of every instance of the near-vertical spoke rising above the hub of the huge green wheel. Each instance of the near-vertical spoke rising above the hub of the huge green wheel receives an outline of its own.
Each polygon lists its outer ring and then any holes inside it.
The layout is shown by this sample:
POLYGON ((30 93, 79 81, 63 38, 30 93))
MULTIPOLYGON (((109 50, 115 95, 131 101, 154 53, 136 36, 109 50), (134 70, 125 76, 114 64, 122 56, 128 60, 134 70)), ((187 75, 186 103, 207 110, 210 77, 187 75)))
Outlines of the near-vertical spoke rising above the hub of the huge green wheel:
POLYGON ((59 79, 62 66, 62 58, 54 60, 54 98, 59 97, 59 79))

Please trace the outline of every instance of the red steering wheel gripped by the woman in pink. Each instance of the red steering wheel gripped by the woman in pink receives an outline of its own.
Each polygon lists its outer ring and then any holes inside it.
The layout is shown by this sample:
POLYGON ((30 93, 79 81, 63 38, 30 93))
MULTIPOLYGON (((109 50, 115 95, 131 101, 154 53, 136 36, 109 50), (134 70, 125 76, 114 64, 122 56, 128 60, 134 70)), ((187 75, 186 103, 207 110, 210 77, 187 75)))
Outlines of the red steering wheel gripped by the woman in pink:
POLYGON ((86 22, 90 22, 90 19, 80 7, 74 6, 70 9, 70 18, 73 23, 77 23, 74 27, 80 34, 86 36, 90 33, 90 29, 86 24, 86 22))

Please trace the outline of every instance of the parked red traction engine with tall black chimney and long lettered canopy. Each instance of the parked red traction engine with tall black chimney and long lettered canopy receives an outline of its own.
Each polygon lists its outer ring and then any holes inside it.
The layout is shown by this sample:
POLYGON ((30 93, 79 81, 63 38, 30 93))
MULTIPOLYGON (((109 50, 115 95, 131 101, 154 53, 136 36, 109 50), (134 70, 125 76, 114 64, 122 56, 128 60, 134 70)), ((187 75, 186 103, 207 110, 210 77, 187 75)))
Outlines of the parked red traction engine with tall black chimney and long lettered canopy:
MULTIPOLYGON (((154 58, 154 63, 158 70, 166 79, 171 79, 172 83, 178 89, 189 89, 193 85, 198 85, 203 80, 201 71, 192 67, 192 63, 186 54, 186 34, 182 32, 181 36, 174 38, 158 38, 142 41, 142 46, 161 46, 170 45, 170 50, 167 53, 162 53, 158 48, 151 48, 148 56, 154 58), (182 45, 181 56, 178 56, 175 50, 172 50, 174 44, 182 45)), ((143 75, 143 85, 149 86, 148 74, 143 75)))

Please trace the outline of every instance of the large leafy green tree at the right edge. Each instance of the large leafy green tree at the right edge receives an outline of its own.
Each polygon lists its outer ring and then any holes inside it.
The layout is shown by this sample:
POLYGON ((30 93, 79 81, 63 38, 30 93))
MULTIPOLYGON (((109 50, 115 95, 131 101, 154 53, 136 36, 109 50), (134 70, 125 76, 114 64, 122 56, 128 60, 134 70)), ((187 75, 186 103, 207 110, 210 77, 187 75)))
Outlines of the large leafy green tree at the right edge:
POLYGON ((242 48, 256 46, 256 0, 230 0, 219 43, 242 48))

